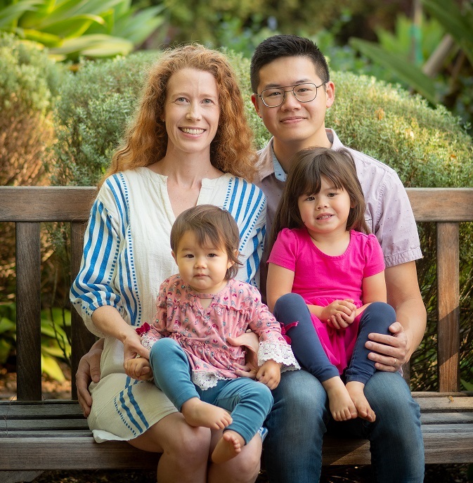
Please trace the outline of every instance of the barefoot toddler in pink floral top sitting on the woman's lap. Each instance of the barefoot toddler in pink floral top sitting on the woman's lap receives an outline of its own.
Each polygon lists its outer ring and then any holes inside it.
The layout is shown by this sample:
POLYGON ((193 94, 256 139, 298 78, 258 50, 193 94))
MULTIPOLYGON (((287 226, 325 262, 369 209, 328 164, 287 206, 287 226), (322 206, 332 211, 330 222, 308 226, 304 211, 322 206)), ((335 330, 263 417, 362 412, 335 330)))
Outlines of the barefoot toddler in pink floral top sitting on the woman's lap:
POLYGON ((153 326, 138 328, 150 360, 127 361, 138 378, 150 366, 155 384, 193 426, 223 430, 214 463, 236 456, 257 434, 273 405, 281 368, 298 369, 280 324, 259 291, 235 280, 238 226, 228 212, 199 205, 177 217, 171 230, 179 274, 160 287, 153 326), (245 349, 232 344, 250 329, 259 336, 255 380, 238 377, 245 349))

